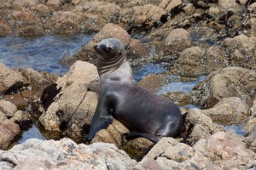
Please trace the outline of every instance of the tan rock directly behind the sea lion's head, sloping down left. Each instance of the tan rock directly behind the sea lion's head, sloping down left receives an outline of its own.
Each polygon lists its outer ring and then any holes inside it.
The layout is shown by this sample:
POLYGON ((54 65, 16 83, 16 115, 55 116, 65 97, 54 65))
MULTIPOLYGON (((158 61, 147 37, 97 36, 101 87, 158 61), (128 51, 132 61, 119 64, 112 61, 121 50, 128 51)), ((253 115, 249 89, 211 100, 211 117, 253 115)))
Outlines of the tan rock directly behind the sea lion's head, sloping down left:
POLYGON ((84 48, 82 48, 78 54, 74 54, 72 57, 67 57, 61 59, 61 64, 63 65, 71 65, 73 62, 77 60, 90 61, 92 63, 96 63, 96 52, 93 48, 97 42, 101 42, 102 39, 106 38, 116 38, 119 41, 123 42, 125 48, 130 44, 131 38, 127 31, 125 31, 120 26, 114 25, 112 23, 107 24, 99 31, 92 41, 88 42, 84 48))

